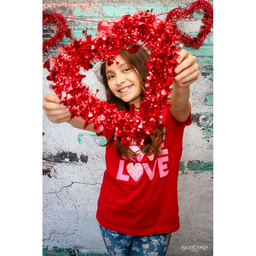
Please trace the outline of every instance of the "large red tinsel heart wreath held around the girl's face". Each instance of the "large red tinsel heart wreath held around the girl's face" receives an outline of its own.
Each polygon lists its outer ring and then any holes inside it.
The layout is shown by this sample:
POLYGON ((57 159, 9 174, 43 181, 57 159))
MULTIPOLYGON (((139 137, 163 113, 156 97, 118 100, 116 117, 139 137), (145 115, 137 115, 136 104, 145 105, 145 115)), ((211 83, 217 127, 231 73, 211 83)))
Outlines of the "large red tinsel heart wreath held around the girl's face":
POLYGON ((93 39, 87 35, 85 40, 73 39, 73 43, 62 46, 58 56, 49 59, 53 62, 52 68, 49 60, 44 64, 50 72, 47 79, 53 81, 50 88, 70 108, 72 117, 81 116, 86 121, 85 127, 92 122, 94 129, 101 131, 103 136, 113 131, 123 146, 130 145, 132 140, 142 145, 148 136, 154 134, 155 128, 163 128, 158 118, 162 109, 169 107, 167 97, 179 56, 179 42, 169 22, 158 18, 152 11, 140 10, 132 16, 124 15, 111 25, 110 32, 101 30, 93 39), (80 71, 89 70, 92 63, 99 60, 113 63, 119 49, 137 52, 139 42, 150 51, 150 61, 145 64, 149 69, 146 90, 143 90, 145 97, 139 111, 134 111, 133 104, 128 112, 118 111, 115 104, 101 101, 91 94, 89 87, 81 82, 85 76, 80 71))

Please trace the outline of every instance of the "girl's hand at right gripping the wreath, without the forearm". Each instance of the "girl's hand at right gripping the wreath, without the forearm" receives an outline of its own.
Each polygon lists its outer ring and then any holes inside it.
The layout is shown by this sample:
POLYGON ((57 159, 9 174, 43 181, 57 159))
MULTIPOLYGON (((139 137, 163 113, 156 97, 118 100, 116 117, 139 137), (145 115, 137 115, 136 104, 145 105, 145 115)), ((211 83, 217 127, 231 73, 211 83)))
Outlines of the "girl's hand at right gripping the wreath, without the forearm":
POLYGON ((177 66, 174 72, 177 74, 174 78, 174 84, 179 87, 187 87, 192 84, 199 76, 198 64, 195 56, 182 49, 177 58, 177 66))

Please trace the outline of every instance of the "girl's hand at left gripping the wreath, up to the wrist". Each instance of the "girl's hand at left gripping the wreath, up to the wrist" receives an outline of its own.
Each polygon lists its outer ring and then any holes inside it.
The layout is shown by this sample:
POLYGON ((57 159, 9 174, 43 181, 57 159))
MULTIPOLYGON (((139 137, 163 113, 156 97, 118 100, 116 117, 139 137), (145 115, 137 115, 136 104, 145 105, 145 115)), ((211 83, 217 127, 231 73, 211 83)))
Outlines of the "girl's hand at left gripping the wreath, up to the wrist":
POLYGON ((44 96, 43 108, 44 113, 51 122, 61 123, 71 119, 69 109, 61 103, 61 100, 55 94, 47 93, 44 96))

